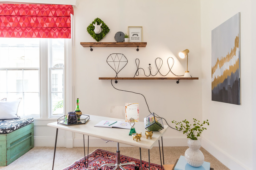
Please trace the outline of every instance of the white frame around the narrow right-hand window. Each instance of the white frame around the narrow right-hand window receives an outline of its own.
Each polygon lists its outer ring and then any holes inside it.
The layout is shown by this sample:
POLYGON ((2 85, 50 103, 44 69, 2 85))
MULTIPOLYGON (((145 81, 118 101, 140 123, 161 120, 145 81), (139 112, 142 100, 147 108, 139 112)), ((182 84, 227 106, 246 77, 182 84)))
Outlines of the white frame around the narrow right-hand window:
MULTIPOLYGON (((52 48, 52 46, 50 46, 52 48)), ((56 118, 60 115, 51 115, 51 64, 48 53, 49 45, 48 39, 40 39, 40 118, 56 118), (48 67, 46 67, 46 65, 48 67), (49 76, 48 79, 46 76, 49 76)), ((54 68, 56 70, 63 68, 54 68)), ((64 40, 64 115, 68 111, 72 111, 72 40, 64 40), (69 80, 69 81, 68 81, 69 80), (70 81, 71 80, 71 81, 70 81)), ((74 103, 74 102, 73 102, 74 103)))

